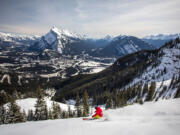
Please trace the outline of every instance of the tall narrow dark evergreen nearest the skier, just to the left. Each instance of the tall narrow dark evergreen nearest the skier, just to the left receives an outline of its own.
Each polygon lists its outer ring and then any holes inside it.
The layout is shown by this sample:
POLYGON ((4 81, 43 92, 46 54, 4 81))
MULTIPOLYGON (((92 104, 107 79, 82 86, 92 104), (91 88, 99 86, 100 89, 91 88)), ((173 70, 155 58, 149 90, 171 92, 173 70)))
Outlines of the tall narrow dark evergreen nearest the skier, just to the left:
POLYGON ((83 94, 83 116, 89 115, 89 96, 87 91, 84 91, 83 94))

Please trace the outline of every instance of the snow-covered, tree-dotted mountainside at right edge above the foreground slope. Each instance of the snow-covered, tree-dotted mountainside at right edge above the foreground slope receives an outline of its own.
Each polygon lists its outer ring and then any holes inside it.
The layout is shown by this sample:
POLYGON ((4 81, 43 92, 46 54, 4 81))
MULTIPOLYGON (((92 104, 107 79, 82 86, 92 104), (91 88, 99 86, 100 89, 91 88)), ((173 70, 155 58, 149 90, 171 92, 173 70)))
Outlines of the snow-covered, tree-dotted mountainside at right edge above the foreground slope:
MULTIPOLYGON (((180 78, 180 43, 166 46, 160 49, 158 57, 153 64, 151 64, 143 74, 135 78, 129 85, 132 86, 137 83, 148 83, 156 82, 156 98, 174 98, 177 87, 180 85, 178 79, 180 78), (172 81, 173 79, 173 81, 172 81), (176 85, 171 86, 171 83, 177 81, 176 85), (164 88, 167 88, 163 92, 164 88), (163 94, 161 94, 163 93, 163 94)), ((151 56, 149 56, 150 58, 151 56)), ((150 58, 152 61, 153 59, 150 58)), ((129 86, 128 85, 128 86, 129 86)))

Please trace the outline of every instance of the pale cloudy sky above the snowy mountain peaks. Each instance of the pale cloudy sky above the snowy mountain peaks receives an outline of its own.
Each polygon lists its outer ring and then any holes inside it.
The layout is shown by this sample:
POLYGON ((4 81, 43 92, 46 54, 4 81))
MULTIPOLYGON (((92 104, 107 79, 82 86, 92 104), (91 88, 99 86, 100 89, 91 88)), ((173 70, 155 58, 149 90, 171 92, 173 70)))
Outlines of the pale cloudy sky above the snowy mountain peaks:
POLYGON ((43 35, 53 26, 90 37, 180 33, 180 0, 0 0, 0 31, 43 35))

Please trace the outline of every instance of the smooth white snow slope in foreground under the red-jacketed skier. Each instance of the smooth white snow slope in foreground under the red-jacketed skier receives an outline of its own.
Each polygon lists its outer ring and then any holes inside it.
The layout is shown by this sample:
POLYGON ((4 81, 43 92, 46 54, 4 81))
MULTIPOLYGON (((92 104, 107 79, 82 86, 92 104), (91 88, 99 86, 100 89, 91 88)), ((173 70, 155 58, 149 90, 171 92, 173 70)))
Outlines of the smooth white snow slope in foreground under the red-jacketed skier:
POLYGON ((179 135, 180 99, 108 110, 108 121, 82 118, 1 125, 2 135, 179 135), (29 132, 30 131, 30 132, 29 132))

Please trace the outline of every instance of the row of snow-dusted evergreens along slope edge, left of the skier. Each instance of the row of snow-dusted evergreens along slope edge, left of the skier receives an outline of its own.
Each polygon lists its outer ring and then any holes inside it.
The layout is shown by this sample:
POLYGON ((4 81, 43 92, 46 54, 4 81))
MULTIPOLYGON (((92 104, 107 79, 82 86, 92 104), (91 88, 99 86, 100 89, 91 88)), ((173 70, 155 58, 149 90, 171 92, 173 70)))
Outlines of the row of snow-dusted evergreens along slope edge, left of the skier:
POLYGON ((37 101, 34 106, 35 111, 28 110, 27 114, 25 110, 21 112, 20 107, 15 102, 15 99, 11 97, 10 100, 11 101, 7 106, 0 106, 0 124, 82 117, 88 116, 90 110, 87 91, 84 92, 83 105, 81 104, 80 99, 77 99, 75 105, 76 109, 72 110, 68 105, 67 111, 62 110, 57 102, 52 102, 52 107, 48 108, 44 99, 43 91, 40 87, 37 88, 37 101))

